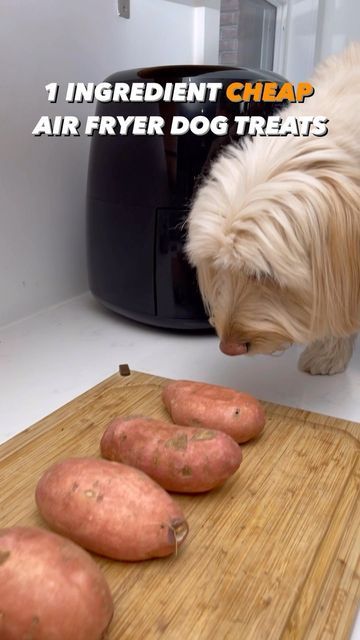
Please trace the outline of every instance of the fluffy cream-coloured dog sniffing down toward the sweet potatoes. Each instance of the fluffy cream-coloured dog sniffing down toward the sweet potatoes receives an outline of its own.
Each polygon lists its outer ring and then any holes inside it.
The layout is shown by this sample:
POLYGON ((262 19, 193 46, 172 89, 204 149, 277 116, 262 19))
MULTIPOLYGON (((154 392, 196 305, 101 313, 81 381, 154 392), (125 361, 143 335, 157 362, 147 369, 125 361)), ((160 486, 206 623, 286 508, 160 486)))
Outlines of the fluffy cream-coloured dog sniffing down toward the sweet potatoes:
POLYGON ((343 371, 360 328, 360 43, 278 115, 326 116, 324 137, 226 147, 198 189, 187 255, 229 355, 307 344, 299 366, 343 371))

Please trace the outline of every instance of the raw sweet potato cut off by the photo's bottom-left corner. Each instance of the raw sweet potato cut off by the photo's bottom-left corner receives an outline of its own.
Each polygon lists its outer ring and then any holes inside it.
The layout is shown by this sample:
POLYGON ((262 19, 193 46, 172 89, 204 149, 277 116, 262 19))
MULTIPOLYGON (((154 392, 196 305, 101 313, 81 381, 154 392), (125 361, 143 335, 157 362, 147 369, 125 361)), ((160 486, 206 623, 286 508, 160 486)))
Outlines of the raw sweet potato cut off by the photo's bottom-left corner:
POLYGON ((1 640, 101 640, 113 616, 91 556, 36 527, 0 529, 1 640))

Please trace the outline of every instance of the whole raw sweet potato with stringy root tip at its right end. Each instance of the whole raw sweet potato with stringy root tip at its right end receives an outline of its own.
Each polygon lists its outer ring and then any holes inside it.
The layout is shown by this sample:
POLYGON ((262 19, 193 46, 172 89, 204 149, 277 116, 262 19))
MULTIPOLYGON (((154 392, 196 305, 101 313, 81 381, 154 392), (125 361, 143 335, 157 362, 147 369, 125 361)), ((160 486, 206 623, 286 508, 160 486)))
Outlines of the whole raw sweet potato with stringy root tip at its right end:
POLYGON ((174 553, 188 526, 180 507, 145 473, 108 460, 68 458, 40 478, 36 503, 58 533, 117 560, 174 553))

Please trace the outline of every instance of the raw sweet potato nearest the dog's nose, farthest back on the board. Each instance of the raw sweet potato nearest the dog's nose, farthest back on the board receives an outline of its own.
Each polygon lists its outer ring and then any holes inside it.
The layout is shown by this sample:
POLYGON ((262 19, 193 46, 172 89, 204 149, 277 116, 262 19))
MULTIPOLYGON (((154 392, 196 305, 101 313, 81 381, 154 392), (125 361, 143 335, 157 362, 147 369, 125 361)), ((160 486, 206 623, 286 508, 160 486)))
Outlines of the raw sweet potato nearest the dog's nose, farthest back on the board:
POLYGON ((260 402, 228 387, 175 380, 164 386, 162 399, 176 424, 218 429, 238 443, 256 438, 265 425, 260 402))

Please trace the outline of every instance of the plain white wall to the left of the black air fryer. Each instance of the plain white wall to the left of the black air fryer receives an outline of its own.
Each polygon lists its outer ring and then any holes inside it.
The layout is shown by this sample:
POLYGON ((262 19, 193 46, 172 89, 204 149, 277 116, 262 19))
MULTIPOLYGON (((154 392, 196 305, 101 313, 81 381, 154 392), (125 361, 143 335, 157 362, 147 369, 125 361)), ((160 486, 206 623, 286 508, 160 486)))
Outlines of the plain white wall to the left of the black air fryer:
POLYGON ((191 6, 132 0, 0 0, 0 325, 88 288, 89 139, 34 138, 41 115, 93 113, 45 84, 99 82, 137 66, 193 62, 191 6))

